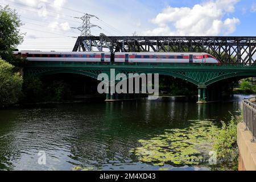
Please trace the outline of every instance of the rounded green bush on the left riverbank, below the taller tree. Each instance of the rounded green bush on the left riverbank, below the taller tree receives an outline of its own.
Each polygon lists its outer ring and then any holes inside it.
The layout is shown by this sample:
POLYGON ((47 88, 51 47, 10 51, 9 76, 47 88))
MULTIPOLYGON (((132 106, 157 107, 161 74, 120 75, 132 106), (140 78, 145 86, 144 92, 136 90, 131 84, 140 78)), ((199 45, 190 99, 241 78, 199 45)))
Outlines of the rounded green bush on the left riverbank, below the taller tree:
POLYGON ((14 66, 0 59, 0 107, 18 102, 22 82, 22 76, 14 72, 14 66))

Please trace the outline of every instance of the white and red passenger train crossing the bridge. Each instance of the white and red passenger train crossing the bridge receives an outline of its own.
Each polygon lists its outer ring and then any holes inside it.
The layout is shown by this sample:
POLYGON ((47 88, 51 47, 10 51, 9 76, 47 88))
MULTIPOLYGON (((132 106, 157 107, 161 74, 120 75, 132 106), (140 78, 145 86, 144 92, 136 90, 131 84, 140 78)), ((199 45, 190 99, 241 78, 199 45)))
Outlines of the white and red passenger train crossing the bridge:
POLYGON ((15 51, 15 56, 28 61, 79 61, 105 63, 205 63, 218 64, 218 59, 205 52, 40 52, 15 51))

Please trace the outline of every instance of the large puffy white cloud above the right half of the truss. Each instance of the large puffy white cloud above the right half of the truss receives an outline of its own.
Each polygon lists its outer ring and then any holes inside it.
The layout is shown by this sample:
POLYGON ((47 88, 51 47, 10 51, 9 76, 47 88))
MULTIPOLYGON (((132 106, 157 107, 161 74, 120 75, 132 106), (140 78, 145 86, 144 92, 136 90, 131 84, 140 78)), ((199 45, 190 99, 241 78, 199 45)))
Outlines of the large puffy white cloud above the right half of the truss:
POLYGON ((226 18, 235 11, 240 0, 207 1, 189 7, 171 7, 159 13, 152 23, 158 27, 145 31, 146 35, 216 36, 229 35, 236 31, 238 18, 226 18))

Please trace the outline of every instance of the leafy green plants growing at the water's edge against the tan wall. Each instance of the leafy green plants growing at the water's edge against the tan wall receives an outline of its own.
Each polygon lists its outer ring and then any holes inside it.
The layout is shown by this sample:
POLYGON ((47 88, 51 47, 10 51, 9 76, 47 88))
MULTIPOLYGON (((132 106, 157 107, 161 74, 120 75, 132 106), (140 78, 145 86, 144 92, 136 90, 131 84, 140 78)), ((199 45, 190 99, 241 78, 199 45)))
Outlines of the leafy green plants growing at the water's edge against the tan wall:
POLYGON ((221 162, 223 170, 237 171, 238 169, 237 125, 238 121, 234 117, 228 124, 222 122, 222 129, 214 144, 217 159, 221 162))

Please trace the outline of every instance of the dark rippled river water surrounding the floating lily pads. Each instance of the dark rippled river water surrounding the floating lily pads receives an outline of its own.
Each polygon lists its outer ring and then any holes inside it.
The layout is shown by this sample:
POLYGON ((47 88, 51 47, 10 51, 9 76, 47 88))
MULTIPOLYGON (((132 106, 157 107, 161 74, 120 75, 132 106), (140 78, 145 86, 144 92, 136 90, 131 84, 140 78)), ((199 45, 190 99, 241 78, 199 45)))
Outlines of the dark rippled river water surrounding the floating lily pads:
MULTIPOLYGON (((189 120, 212 119, 218 125, 241 110, 233 102, 131 101, 36 106, 0 110, 0 170, 158 170, 129 152, 139 139, 166 129, 184 129, 189 120), (38 152, 47 154, 38 164, 38 152)), ((165 166, 172 170, 208 170, 207 166, 165 166)))

